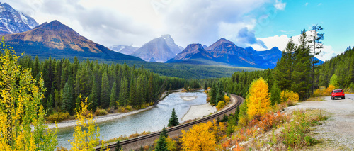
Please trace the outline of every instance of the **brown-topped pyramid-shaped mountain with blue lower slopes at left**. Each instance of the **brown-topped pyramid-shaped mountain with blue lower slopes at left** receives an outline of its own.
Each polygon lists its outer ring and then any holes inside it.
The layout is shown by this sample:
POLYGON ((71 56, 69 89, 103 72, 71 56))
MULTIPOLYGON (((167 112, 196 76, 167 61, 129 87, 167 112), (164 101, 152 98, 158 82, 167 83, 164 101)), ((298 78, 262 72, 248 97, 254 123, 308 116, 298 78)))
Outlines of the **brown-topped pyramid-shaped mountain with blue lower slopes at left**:
POLYGON ((89 57, 95 60, 142 61, 139 57, 114 52, 103 45, 93 43, 59 21, 42 23, 23 33, 4 35, 4 39, 16 52, 38 57, 51 55, 57 58, 77 56, 81 59, 89 57))

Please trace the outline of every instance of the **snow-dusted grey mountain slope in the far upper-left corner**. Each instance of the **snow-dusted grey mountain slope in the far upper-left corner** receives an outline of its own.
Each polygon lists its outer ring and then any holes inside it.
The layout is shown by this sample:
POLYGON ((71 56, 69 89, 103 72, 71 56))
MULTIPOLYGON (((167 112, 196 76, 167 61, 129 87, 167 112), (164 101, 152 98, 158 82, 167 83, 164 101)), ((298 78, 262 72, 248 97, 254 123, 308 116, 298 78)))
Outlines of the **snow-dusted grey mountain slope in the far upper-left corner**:
POLYGON ((35 19, 16 11, 6 3, 0 3, 0 35, 25 32, 35 26, 38 26, 35 19))

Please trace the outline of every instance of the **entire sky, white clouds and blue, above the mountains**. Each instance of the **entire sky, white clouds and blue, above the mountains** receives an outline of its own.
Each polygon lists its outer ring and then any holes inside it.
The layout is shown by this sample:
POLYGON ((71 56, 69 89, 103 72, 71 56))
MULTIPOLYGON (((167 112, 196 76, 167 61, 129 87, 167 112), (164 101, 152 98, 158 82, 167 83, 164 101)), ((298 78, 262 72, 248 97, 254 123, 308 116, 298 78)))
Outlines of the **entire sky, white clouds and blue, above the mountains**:
POLYGON ((212 45, 227 38, 256 50, 279 47, 315 24, 324 28, 319 58, 354 45, 354 1, 319 0, 1 0, 38 23, 58 20, 96 43, 142 46, 170 34, 175 43, 212 45))

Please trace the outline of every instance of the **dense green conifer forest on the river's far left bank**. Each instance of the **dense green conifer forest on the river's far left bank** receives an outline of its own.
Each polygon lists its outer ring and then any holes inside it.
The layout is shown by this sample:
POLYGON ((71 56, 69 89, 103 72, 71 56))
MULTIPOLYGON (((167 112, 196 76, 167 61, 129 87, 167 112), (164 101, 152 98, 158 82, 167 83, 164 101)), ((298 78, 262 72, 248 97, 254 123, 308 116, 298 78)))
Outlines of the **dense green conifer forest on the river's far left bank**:
POLYGON ((32 69, 33 77, 44 79, 47 89, 42 105, 52 112, 74 113, 81 98, 89 97, 89 109, 139 108, 153 104, 166 90, 199 88, 198 80, 164 77, 144 69, 143 66, 128 67, 123 64, 105 64, 98 61, 55 60, 49 57, 40 61, 38 57, 24 56, 19 63, 32 69))

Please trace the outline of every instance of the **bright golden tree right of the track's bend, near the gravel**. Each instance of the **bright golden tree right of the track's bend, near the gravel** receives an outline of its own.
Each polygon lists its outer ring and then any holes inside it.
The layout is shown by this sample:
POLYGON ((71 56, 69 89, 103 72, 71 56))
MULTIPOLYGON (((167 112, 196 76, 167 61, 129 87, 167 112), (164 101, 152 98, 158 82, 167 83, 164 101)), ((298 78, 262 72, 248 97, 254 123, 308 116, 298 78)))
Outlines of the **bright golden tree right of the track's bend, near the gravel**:
POLYGON ((270 94, 268 92, 268 84, 263 77, 253 80, 249 87, 247 100, 247 114, 249 119, 257 114, 263 114, 270 108, 270 94))

